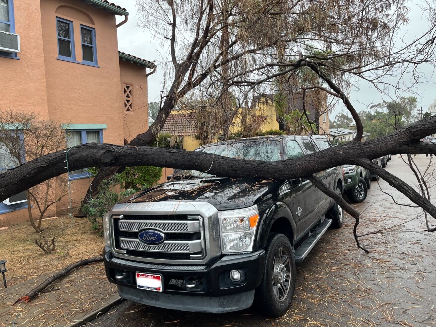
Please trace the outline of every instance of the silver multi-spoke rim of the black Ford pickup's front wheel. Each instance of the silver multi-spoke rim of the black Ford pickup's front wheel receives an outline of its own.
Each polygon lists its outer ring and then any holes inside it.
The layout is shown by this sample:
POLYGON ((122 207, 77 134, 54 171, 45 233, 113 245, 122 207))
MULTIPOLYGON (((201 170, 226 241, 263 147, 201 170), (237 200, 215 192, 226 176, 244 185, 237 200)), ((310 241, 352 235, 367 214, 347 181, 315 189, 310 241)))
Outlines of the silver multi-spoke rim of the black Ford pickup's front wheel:
POLYGON ((290 253, 284 247, 278 247, 272 262, 272 291, 278 301, 284 301, 289 293, 291 280, 290 253))

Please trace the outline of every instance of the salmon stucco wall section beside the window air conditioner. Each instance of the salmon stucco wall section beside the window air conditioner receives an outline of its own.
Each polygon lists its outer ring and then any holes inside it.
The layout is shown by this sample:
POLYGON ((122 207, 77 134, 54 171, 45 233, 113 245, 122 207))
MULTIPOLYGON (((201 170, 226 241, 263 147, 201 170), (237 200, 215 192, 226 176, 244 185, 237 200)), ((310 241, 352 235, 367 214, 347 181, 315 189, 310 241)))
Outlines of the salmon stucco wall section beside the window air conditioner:
POLYGON ((20 60, 0 57, 0 109, 34 112, 48 118, 46 74, 39 1, 14 1, 15 32, 20 35, 20 60), (25 82, 24 82, 25 81, 25 82))

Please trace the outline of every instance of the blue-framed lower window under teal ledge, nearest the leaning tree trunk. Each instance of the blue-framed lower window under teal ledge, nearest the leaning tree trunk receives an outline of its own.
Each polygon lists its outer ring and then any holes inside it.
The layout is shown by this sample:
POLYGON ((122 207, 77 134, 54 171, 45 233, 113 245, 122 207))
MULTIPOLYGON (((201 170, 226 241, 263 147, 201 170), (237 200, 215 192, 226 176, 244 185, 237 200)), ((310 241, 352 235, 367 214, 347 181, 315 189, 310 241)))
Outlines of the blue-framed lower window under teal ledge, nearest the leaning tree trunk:
MULTIPOLYGON (((68 148, 92 142, 103 143, 102 129, 69 129, 66 131, 66 146, 68 148)), ((70 180, 73 180, 89 176, 91 176, 91 174, 85 168, 70 171, 68 177, 70 180)))

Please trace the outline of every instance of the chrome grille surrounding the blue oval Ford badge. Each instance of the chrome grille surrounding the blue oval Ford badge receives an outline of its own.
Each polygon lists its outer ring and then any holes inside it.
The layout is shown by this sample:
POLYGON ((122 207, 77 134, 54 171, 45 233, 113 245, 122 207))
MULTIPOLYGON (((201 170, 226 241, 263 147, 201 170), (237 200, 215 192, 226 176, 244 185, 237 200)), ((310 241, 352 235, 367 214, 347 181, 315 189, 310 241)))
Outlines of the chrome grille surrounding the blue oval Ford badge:
POLYGON ((109 213, 112 253, 120 259, 161 264, 204 264, 220 256, 218 211, 201 201, 116 204, 109 213), (147 231, 162 241, 140 240, 147 231))

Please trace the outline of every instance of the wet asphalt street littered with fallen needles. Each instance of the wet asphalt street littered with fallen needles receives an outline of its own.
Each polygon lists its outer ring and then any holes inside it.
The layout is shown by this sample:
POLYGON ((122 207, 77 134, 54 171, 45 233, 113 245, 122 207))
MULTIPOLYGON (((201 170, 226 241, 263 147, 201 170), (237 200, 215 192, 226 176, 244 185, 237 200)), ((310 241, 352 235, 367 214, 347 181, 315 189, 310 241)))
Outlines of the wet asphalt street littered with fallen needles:
MULTIPOLYGON (((406 157, 405 157, 406 158, 406 157)), ((407 159, 406 159, 407 160, 407 159)), ((430 158, 417 155, 422 172, 430 158)), ((432 162, 436 163, 434 157, 432 162)), ((427 176, 436 203, 436 165, 427 176)), ((401 158, 386 170, 417 189, 416 179, 401 158)), ((287 314, 269 319, 248 309, 202 314, 160 309, 124 301, 88 323, 90 326, 436 326, 436 235, 425 232, 422 210, 385 181, 371 182, 361 212, 358 250, 354 219, 345 215, 340 230, 328 230, 306 260, 297 264, 294 300, 287 314)), ((433 226, 436 221, 429 218, 433 226)))

